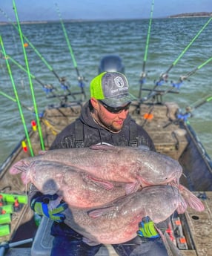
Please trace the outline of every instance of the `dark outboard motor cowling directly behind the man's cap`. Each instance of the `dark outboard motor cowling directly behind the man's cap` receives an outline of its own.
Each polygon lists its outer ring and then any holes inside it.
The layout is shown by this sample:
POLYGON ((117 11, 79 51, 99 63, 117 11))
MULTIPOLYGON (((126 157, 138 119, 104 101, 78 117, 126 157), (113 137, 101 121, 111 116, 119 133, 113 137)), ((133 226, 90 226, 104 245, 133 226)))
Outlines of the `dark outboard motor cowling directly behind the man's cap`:
POLYGON ((107 55, 101 59, 99 65, 99 73, 102 72, 120 72, 125 73, 125 67, 122 64, 122 59, 118 55, 107 55))

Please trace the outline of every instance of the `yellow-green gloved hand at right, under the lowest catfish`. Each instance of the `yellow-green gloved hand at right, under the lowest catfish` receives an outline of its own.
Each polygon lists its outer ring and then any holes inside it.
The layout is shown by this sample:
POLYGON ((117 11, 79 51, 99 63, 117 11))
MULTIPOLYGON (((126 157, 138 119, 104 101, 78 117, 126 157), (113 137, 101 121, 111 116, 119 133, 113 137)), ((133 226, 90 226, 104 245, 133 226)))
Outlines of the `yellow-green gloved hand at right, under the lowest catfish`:
POLYGON ((137 234, 140 237, 147 237, 149 239, 154 239, 159 237, 158 232, 154 228, 154 223, 150 220, 150 217, 143 217, 142 221, 139 223, 139 230, 137 234))

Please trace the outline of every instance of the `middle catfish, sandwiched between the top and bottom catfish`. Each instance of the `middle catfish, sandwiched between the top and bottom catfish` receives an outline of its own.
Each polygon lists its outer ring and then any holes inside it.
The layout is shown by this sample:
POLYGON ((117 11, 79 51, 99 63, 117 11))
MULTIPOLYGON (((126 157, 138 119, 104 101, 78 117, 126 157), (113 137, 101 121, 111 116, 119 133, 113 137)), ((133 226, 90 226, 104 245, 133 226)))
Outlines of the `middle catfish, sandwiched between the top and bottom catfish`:
POLYGON ((90 174, 58 162, 36 160, 19 168, 24 183, 30 181, 43 194, 58 194, 71 207, 101 206, 126 194, 125 183, 96 183, 90 174))

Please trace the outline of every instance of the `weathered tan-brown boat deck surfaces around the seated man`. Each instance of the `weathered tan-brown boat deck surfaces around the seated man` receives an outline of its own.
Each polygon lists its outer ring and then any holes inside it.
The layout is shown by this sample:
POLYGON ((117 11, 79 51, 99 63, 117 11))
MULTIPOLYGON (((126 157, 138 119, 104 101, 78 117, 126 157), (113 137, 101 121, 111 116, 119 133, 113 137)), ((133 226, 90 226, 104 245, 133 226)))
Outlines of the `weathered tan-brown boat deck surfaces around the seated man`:
MULTIPOLYGON (((162 154, 167 154, 173 159, 179 160, 179 163, 182 164, 184 172, 186 173, 186 178, 182 177, 180 183, 190 189, 192 188, 192 191, 206 190, 206 199, 202 197, 203 203, 205 203, 205 211, 196 214, 195 211, 188 209, 188 211, 181 216, 184 225, 183 229, 185 229, 185 237, 188 239, 188 249, 181 251, 184 252, 186 256, 210 255, 212 251, 212 217, 210 210, 212 209, 211 167, 208 166, 205 157, 202 157, 202 153, 199 153, 199 151, 196 150, 196 145, 193 145, 190 134, 188 134, 186 128, 179 125, 177 122, 170 122, 170 119, 175 119, 178 105, 173 102, 165 102, 163 105, 142 104, 139 109, 137 106, 136 102, 130 106, 130 114, 133 116, 133 119, 136 119, 137 123, 142 125, 145 130, 148 131, 148 134, 150 134, 150 137, 153 139, 156 146, 156 151, 162 154), (148 119, 146 118, 147 116, 149 116, 148 119), (151 116, 153 118, 150 118, 151 116), (195 155, 195 158, 191 156, 191 153, 195 155), (194 159, 195 163, 193 163, 194 159), (205 174, 205 179, 204 182, 201 182, 201 186, 199 186, 198 181, 201 173, 205 174), (191 187, 188 183, 188 177, 193 181, 191 187)), ((48 150, 52 144, 56 134, 58 134, 66 125, 70 124, 70 122, 73 122, 79 116, 80 111, 81 105, 70 105, 70 107, 66 108, 47 108, 44 111, 41 125, 46 150, 48 150)), ((39 154, 41 147, 38 131, 30 131, 30 140, 33 145, 34 154, 39 154)), ((10 166, 25 157, 30 157, 30 152, 22 151, 20 143, 16 148, 16 151, 13 151, 13 154, 11 154, 4 163, 3 167, 1 166, 1 188, 12 187, 12 190, 10 191, 11 193, 26 193, 27 188, 21 183, 19 175, 8 174, 10 166)), ((21 211, 12 214, 10 234, 0 237, 0 242, 10 241, 13 243, 34 237, 35 233, 36 226, 33 220, 33 211, 27 206, 24 206, 21 211)), ((42 242, 36 241, 37 240, 34 241, 33 245, 35 245, 35 243, 41 243, 40 246, 42 246, 42 242)), ((49 249, 50 248, 47 247, 47 253, 49 253, 49 249)), ((7 252, 7 255, 33 256, 33 253, 34 251, 31 252, 30 246, 27 246, 27 248, 21 247, 19 249, 10 249, 7 252)), ((45 256, 47 255, 48 254, 45 254, 45 256)), ((112 247, 107 246, 107 248, 102 248, 98 255, 111 256, 116 254, 112 247)))

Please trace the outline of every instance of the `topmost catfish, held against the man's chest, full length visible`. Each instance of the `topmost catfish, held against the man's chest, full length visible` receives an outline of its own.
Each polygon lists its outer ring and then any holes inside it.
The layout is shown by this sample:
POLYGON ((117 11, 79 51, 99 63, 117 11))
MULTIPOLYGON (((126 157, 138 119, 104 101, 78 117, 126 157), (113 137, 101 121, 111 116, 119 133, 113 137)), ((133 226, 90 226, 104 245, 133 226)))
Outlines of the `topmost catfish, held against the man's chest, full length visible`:
POLYGON ((167 184, 179 181, 182 167, 178 161, 165 154, 144 148, 93 145, 90 148, 63 148, 42 151, 36 157, 24 158, 10 169, 16 174, 21 166, 35 160, 48 160, 70 165, 108 182, 128 183, 127 190, 136 191, 139 186, 167 184), (130 187, 130 188, 129 188, 130 187))

